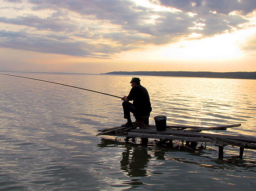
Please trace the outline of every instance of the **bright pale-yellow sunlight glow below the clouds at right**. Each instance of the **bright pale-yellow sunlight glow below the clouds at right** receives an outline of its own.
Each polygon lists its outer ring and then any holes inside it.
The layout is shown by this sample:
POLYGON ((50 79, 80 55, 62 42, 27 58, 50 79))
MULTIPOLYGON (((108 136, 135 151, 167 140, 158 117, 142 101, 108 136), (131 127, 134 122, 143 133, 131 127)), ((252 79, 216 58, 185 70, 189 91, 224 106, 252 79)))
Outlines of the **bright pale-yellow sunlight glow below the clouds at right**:
MULTIPOLYGON (((198 26, 200 25, 204 26, 204 24, 198 23, 198 26)), ((255 34, 255 30, 256 27, 204 39, 201 39, 201 34, 192 33, 189 38, 177 43, 147 46, 144 50, 127 51, 119 54, 119 59, 129 59, 134 62, 170 62, 173 60, 213 62, 214 60, 241 59, 244 57, 241 45, 255 34)))

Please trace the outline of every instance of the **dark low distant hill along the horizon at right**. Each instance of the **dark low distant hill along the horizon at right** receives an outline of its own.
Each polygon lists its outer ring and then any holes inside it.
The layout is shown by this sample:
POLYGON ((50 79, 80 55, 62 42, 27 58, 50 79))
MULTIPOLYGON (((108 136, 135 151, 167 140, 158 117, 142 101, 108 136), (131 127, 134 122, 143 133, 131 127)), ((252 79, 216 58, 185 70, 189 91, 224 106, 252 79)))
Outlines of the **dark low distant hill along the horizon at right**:
POLYGON ((256 80, 256 71, 246 72, 210 72, 210 71, 112 71, 101 74, 134 76, 170 76, 170 77, 209 77, 256 80))

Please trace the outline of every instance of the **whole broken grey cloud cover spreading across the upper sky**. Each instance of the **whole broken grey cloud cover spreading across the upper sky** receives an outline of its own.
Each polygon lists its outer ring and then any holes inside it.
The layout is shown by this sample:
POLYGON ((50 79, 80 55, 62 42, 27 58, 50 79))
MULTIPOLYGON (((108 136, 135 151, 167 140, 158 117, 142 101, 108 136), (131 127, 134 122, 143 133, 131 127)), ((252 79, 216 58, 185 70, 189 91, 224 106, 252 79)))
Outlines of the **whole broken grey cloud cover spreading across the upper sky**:
POLYGON ((101 58, 194 33, 204 38, 242 29, 248 22, 243 15, 256 8, 255 0, 151 0, 180 11, 138 6, 131 0, 4 2, 6 10, 16 12, 0 13, 1 47, 101 58), (15 3, 22 3, 22 13, 15 3))

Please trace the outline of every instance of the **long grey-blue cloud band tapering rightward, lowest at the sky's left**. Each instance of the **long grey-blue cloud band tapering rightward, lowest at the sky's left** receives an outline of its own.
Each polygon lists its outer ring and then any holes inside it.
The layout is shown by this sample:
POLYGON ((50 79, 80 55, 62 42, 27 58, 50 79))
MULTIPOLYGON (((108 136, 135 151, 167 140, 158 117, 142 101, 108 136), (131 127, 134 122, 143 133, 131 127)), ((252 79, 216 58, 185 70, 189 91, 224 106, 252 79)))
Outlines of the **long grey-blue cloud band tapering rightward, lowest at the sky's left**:
POLYGON ((0 47, 51 54, 65 54, 81 57, 110 58, 112 54, 136 48, 135 46, 110 46, 108 44, 91 44, 70 39, 67 35, 38 35, 26 31, 0 31, 0 47))

